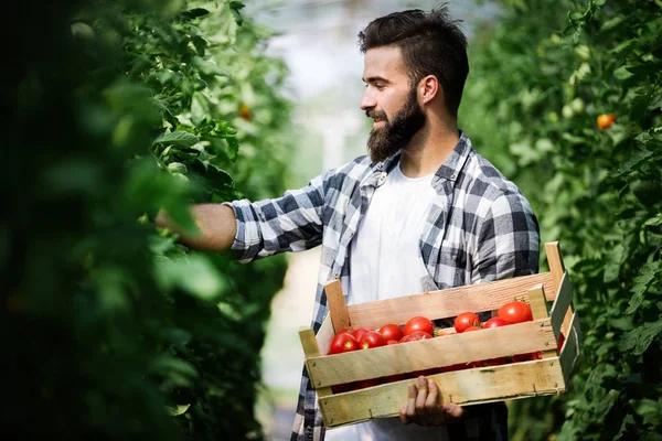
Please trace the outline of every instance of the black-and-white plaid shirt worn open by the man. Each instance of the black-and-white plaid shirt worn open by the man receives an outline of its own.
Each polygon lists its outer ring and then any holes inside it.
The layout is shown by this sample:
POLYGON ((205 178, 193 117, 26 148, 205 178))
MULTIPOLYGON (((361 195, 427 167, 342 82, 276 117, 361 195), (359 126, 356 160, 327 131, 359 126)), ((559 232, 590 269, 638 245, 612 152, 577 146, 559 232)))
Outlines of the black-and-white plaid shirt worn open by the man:
MULTIPOLYGON (((228 204, 237 218, 232 249, 243 262, 322 245, 311 324, 316 333, 329 312, 322 286, 334 278, 346 286, 351 240, 372 195, 398 163, 398 157, 380 163, 361 157, 279 198, 228 204)), ((423 280, 426 291, 538 271, 538 224, 528 202, 515 184, 471 148, 463 132, 431 185, 438 196, 419 240, 419 258, 429 273, 423 280)), ((466 410, 461 423, 448 427, 451 439, 508 438, 504 402, 468 406, 466 410)), ((291 439, 323 438, 317 396, 303 368, 291 439)))

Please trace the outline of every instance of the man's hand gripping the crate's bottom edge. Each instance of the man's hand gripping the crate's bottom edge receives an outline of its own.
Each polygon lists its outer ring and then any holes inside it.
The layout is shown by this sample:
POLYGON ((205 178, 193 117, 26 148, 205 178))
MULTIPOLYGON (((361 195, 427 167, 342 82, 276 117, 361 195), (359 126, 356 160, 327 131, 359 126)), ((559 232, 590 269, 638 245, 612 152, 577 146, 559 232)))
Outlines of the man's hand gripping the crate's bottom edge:
POLYGON ((425 427, 446 426, 459 422, 463 413, 465 409, 452 402, 440 405, 437 384, 421 375, 416 384, 409 385, 409 397, 401 408, 401 421, 425 427))

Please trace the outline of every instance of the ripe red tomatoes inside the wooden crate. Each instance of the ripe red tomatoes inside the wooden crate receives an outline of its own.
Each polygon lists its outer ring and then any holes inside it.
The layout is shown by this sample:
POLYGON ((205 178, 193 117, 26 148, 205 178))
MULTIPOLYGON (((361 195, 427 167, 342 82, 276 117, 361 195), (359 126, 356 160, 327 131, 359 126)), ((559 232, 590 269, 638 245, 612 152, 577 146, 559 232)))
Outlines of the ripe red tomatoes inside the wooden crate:
MULTIPOLYGON (((453 322, 456 333, 473 332, 490 327, 500 327, 510 324, 523 323, 533 320, 533 313, 528 303, 523 301, 512 301, 501 306, 496 316, 491 318, 484 323, 481 322, 478 314, 473 312, 463 312, 459 314, 453 322)), ((357 330, 346 329, 339 332, 331 342, 329 355, 341 354, 345 352, 369 349, 391 344, 402 344, 418 340, 434 338, 436 336, 448 335, 448 332, 439 332, 435 329, 431 320, 425 316, 415 316, 405 323, 403 327, 395 323, 388 323, 378 330, 372 327, 361 327, 357 330)), ((452 332, 451 332, 452 333, 452 332)), ((564 336, 559 335, 558 349, 563 345, 564 336)), ((498 366, 513 362, 526 362, 541 359, 542 354, 516 354, 513 356, 498 357, 478 362, 460 363, 451 366, 445 366, 436 369, 427 369, 409 374, 394 375, 385 378, 375 378, 364 381, 356 381, 340 386, 333 386, 333 392, 355 390, 363 387, 376 386, 382 383, 391 383, 407 378, 416 378, 419 375, 433 375, 453 370, 468 369, 473 367, 498 366)))

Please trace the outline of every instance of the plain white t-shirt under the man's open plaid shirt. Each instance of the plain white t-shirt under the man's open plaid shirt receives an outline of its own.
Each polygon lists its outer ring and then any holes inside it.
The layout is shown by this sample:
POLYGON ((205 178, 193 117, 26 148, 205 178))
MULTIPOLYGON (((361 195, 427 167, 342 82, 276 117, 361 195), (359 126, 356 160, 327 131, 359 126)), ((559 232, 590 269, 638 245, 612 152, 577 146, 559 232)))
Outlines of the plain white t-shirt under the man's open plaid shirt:
MULTIPOLYGON (((437 192, 434 174, 410 179, 399 164, 375 190, 350 255, 348 304, 372 302, 424 292, 427 273, 420 256, 420 237, 437 192)), ((429 276, 428 276, 429 277, 429 276)), ((382 418, 327 430, 328 441, 445 441, 446 428, 403 424, 399 417, 382 418)))

